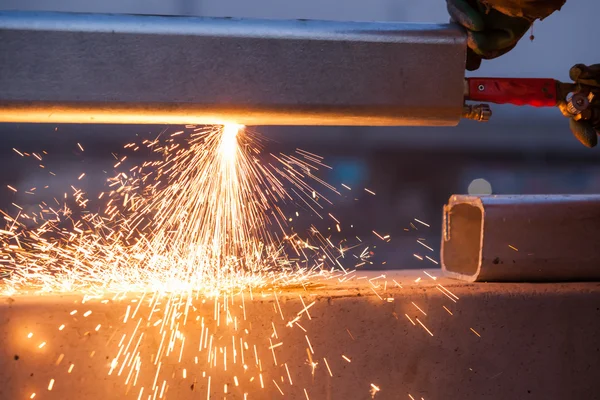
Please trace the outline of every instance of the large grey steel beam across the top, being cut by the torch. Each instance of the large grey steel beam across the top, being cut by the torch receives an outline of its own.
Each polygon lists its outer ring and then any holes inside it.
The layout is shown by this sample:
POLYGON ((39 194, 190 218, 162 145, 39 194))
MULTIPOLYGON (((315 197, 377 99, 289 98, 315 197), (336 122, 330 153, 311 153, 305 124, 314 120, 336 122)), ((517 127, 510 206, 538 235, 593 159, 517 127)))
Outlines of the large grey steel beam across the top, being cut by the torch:
POLYGON ((0 12, 0 122, 460 119, 452 25, 0 12))

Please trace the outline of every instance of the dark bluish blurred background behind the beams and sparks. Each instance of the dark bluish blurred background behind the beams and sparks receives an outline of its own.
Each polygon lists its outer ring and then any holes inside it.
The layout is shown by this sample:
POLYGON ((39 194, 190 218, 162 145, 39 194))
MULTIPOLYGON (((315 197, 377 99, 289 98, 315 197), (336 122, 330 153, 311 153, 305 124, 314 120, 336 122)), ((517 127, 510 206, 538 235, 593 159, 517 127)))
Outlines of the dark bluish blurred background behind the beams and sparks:
MULTIPOLYGON (((448 21, 444 0, 0 0, 0 9, 448 21)), ((600 62, 600 46, 594 33, 598 15, 597 0, 568 1, 562 11, 535 23, 533 41, 525 38, 512 52, 484 62, 471 75, 568 80, 571 65, 600 62)), ((491 122, 463 121, 455 128, 253 130, 273 139, 269 146, 277 151, 301 148, 325 157, 333 169, 323 171, 323 176, 342 193, 333 198, 336 205, 328 211, 342 221, 344 234, 359 236, 377 246, 370 268, 429 268, 435 265, 420 261, 413 254, 438 259, 441 210, 453 193, 600 193, 600 149, 583 148, 572 137, 568 121, 558 110, 494 105, 493 111, 491 122), (352 190, 341 188, 341 183, 352 190), (415 218, 430 227, 417 223, 415 218), (391 241, 379 240, 372 230, 382 236, 389 234, 391 241), (435 251, 417 244, 418 238, 435 251)), ((41 197, 24 192, 33 187, 39 192, 49 186, 44 196, 50 198, 71 192, 71 184, 97 193, 106 178, 114 174, 115 156, 121 154, 125 143, 154 137, 164 129, 0 124, 0 208, 13 213, 13 202, 33 207, 41 197), (48 155, 39 162, 33 157, 20 157, 13 148, 40 154, 45 150, 48 155), (83 172, 85 177, 78 180, 83 172), (11 192, 6 185, 17 187, 19 192, 11 192)), ((315 223, 319 223, 318 219, 315 223)))

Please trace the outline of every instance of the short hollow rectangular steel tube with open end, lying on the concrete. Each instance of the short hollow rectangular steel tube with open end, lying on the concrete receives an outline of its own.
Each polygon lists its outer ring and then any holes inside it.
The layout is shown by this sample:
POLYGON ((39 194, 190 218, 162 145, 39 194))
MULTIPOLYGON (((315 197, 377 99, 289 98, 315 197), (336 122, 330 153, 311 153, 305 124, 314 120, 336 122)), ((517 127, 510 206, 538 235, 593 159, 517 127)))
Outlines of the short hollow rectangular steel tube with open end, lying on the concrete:
POLYGON ((600 280, 600 195, 452 196, 441 263, 473 281, 600 280))

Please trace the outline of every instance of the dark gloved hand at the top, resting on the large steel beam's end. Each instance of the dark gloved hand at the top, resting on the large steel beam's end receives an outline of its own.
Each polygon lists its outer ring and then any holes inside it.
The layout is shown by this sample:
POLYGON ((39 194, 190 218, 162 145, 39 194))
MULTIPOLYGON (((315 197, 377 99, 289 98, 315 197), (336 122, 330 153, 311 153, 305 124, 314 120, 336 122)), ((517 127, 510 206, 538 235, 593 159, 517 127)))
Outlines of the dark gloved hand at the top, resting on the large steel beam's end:
POLYGON ((482 59, 492 59, 512 50, 535 18, 511 16, 480 0, 446 0, 453 22, 467 30, 467 70, 479 68, 482 59))

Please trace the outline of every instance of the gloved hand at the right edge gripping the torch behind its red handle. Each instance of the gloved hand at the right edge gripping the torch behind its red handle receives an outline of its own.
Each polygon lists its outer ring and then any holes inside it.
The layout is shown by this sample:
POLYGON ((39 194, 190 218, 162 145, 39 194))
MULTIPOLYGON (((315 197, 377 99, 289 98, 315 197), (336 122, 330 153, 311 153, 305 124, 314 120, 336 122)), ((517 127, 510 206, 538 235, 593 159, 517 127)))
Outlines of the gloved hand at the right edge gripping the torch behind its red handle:
POLYGON ((600 64, 574 65, 569 76, 576 84, 591 90, 594 98, 585 112, 575 116, 569 111, 566 101, 561 101, 558 107, 564 116, 570 118, 569 127, 577 140, 586 147, 595 147, 600 135, 600 64))

